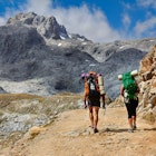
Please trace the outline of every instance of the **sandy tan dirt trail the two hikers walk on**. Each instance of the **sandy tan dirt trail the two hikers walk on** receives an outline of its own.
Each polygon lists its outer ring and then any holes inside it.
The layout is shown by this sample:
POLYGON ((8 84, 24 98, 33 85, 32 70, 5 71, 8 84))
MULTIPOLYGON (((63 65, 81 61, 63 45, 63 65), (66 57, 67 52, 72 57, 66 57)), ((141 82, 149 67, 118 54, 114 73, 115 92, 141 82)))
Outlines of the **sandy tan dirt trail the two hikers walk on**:
MULTIPOLYGON (((61 114, 33 139, 26 136, 10 156, 156 156, 156 125, 137 120, 137 130, 128 133, 125 107, 99 111, 99 133, 89 128, 88 110, 61 114)), ((7 156, 3 155, 3 156, 7 156)))

